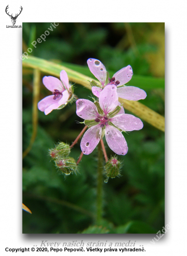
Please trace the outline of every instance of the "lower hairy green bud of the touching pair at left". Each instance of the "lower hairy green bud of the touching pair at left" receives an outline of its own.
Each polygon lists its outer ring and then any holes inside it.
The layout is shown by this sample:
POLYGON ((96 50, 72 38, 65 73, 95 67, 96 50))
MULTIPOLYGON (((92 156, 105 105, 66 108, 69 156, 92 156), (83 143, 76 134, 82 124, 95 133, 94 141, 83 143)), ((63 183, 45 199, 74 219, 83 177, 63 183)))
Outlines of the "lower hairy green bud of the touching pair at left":
POLYGON ((58 158, 55 160, 55 165, 64 175, 70 175, 77 171, 77 164, 72 157, 58 158))

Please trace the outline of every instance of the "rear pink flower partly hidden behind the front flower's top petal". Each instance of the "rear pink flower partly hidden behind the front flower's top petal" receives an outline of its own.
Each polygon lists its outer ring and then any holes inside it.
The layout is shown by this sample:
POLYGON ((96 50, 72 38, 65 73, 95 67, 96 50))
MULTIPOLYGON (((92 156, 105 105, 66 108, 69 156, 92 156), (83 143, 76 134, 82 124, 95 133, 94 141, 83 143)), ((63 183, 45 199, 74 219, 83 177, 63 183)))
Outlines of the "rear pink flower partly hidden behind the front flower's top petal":
MULTIPOLYGON (((130 81, 133 75, 132 67, 130 65, 117 71, 110 79, 107 78, 106 68, 101 61, 96 59, 88 59, 87 63, 91 73, 94 74, 95 77, 101 82, 103 88, 109 84, 116 85, 119 98, 129 101, 139 101, 146 98, 147 94, 144 90, 134 86, 124 85, 130 81)), ((92 93, 99 98, 99 94, 103 88, 93 86, 92 93)))

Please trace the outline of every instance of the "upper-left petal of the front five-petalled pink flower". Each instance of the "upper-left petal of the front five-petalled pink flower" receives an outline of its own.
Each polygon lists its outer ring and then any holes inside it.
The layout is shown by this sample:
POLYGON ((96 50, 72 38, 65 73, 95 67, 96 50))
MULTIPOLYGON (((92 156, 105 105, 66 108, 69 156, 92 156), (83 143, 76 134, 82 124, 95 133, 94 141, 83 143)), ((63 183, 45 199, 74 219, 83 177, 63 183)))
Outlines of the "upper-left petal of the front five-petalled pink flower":
POLYGON ((98 115, 96 105, 89 100, 79 99, 76 101, 77 115, 85 120, 95 119, 98 115))

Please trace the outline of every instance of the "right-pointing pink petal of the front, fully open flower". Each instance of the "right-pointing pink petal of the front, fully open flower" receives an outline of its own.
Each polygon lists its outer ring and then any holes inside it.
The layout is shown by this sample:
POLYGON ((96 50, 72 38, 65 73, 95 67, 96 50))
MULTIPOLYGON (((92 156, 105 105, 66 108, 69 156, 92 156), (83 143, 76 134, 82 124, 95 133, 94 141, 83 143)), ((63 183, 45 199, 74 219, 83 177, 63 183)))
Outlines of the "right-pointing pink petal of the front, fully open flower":
POLYGON ((134 115, 129 114, 121 114, 116 115, 110 119, 110 121, 117 127, 122 129, 123 131, 134 131, 140 130, 143 128, 142 121, 135 117, 134 115))

